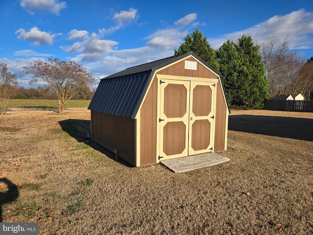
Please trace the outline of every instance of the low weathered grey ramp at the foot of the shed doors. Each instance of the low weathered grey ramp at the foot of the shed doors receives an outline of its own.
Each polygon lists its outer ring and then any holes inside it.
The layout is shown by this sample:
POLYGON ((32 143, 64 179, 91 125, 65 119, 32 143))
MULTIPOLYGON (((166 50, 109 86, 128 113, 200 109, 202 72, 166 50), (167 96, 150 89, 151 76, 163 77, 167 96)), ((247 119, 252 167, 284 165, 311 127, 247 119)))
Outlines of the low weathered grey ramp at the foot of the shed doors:
POLYGON ((160 161, 161 164, 176 172, 185 172, 230 161, 217 153, 203 153, 182 158, 160 161))

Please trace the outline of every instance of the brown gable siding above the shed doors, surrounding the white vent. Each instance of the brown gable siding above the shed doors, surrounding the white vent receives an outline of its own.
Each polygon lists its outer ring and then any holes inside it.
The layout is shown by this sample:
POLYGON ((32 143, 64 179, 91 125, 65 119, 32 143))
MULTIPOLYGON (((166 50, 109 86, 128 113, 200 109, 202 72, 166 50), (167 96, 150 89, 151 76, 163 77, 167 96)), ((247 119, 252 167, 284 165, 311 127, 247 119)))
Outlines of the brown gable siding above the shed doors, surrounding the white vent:
MULTIPOLYGON (((196 59, 193 57, 189 57, 185 60, 195 61, 196 59)), ((157 72, 157 74, 163 75, 174 75, 174 76, 185 76, 185 77, 203 77, 203 78, 217 78, 217 76, 206 67, 204 67, 201 63, 197 62, 197 70, 186 70, 185 69, 185 60, 179 61, 174 65, 166 67, 157 72)))

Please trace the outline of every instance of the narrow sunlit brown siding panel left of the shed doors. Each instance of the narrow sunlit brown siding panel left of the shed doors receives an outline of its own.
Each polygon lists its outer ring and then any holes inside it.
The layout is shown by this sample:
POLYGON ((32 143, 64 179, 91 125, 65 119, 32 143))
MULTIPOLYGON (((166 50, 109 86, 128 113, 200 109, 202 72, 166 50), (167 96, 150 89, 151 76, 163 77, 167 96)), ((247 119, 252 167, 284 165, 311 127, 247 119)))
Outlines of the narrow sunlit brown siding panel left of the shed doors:
POLYGON ((155 77, 140 109, 140 166, 156 164, 156 103, 155 77))

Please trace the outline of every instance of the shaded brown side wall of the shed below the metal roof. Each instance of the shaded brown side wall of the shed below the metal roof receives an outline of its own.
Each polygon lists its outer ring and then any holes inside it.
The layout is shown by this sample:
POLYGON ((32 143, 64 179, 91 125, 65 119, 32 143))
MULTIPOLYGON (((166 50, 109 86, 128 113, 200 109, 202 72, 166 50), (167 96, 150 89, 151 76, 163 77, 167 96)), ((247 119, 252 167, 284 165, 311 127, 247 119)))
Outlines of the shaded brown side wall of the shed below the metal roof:
POLYGON ((129 162, 136 164, 135 120, 91 111, 91 139, 129 162))

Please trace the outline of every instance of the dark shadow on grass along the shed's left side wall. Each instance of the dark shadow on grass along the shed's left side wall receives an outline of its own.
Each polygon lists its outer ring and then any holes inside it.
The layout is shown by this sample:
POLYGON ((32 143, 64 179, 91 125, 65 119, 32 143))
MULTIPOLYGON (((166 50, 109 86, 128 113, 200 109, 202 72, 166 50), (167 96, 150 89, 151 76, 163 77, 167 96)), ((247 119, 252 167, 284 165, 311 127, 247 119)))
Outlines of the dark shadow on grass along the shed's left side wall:
POLYGON ((128 167, 134 167, 132 164, 126 162, 124 159, 115 156, 110 150, 105 147, 99 145, 98 143, 92 141, 90 139, 91 130, 90 130, 90 120, 82 120, 82 119, 67 119, 63 121, 59 121, 59 124, 63 131, 67 132, 68 135, 76 139, 78 142, 84 142, 89 145, 91 148, 103 153, 108 158, 123 164, 128 167))

